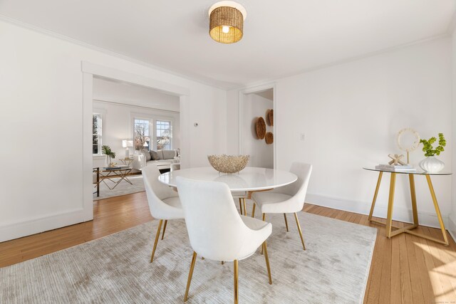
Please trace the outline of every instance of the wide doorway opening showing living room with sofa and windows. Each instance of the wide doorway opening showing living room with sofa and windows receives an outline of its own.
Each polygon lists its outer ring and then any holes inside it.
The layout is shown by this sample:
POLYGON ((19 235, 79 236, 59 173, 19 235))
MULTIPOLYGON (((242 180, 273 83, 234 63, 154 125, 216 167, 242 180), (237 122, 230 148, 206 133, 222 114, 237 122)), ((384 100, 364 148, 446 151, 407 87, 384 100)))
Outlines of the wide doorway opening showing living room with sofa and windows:
POLYGON ((93 200, 142 192, 142 167, 157 162, 169 171, 178 157, 180 98, 94 76, 93 130, 93 200), (102 147, 115 153, 110 164, 102 147), (162 151, 167 157, 153 161, 152 152, 162 151))

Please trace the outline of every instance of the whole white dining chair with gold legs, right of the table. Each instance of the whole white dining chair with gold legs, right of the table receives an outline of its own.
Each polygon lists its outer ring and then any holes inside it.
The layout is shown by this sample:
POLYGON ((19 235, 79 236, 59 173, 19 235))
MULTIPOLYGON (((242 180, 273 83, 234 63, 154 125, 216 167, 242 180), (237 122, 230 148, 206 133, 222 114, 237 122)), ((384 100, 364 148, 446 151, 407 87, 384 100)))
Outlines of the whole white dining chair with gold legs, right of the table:
POLYGON ((298 176, 298 179, 293 184, 272 189, 268 192, 254 192, 254 194, 252 194, 252 200, 254 201, 252 217, 255 215, 255 206, 258 206, 261 211, 263 221, 266 219, 266 214, 284 214, 286 231, 288 232, 286 214, 293 213, 294 219, 296 220, 296 226, 298 226, 299 236, 301 236, 302 248, 306 250, 301 225, 299 225, 298 214, 296 212, 301 211, 304 207, 312 165, 294 162, 291 164, 290 172, 298 176))

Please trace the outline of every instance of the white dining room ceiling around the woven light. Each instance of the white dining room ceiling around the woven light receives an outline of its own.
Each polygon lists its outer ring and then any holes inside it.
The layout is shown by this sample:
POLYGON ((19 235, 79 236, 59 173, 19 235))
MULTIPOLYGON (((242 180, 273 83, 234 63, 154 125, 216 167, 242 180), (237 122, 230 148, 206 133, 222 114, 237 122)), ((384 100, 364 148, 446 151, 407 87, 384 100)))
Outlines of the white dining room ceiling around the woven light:
POLYGON ((224 88, 448 32, 455 0, 239 1, 244 38, 208 34, 217 0, 2 0, 0 15, 224 88))

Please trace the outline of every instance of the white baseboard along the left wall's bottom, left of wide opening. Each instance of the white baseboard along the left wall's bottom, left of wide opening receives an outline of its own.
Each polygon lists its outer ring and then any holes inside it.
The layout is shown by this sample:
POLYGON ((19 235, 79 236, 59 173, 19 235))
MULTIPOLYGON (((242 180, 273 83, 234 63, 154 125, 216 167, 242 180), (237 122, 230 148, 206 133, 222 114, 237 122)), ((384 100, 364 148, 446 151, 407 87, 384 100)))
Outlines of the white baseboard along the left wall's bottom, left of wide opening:
POLYGON ((84 220, 84 210, 81 208, 57 214, 49 214, 26 221, 4 224, 0 226, 0 242, 78 224, 84 220))

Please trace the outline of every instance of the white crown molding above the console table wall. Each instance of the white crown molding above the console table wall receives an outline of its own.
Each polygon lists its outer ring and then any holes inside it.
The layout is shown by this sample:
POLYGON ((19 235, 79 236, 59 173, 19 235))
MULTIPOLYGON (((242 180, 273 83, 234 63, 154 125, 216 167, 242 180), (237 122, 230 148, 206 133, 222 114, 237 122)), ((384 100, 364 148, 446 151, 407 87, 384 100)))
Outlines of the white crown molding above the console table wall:
POLYGON ((237 88, 231 88, 229 90, 244 90, 244 89, 256 87, 256 86, 259 86, 259 85, 265 85, 267 83, 276 83, 278 80, 282 80, 284 78, 291 78, 291 77, 294 77, 294 76, 297 76, 297 75, 314 72, 315 70, 323 70, 324 68, 331 68, 331 67, 336 66, 336 65, 341 65, 341 64, 344 64, 344 63, 351 63, 351 62, 359 61, 359 60, 362 60, 362 59, 365 59, 365 58, 379 56, 379 55, 382 55, 384 53, 390 53, 390 52, 398 51, 400 49, 408 48, 409 46, 415 46, 415 45, 418 45, 418 44, 421 44, 421 43, 429 43, 431 41, 435 41, 435 40, 438 40, 438 39, 441 39, 441 38, 447 38, 449 36, 450 36, 450 33, 442 33, 442 34, 439 34, 439 35, 435 35, 435 36, 430 36, 430 37, 427 37, 427 38, 419 39, 419 40, 416 40, 416 41, 403 43, 403 44, 400 44, 398 46, 392 46, 390 48, 383 48, 380 51, 374 51, 374 52, 370 52, 370 53, 365 53, 365 54, 362 54, 362 55, 359 55, 359 56, 353 56, 353 57, 350 57, 350 58, 341 59, 339 61, 333 61, 332 63, 316 65, 314 67, 305 68, 303 70, 299 70, 299 71, 294 72, 294 73, 284 74, 284 75, 281 75, 281 76, 276 77, 276 78, 269 78, 269 79, 254 81, 252 83, 247 83, 246 85, 240 85, 237 88))

